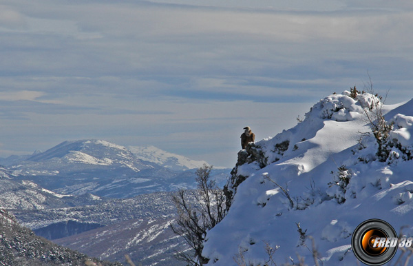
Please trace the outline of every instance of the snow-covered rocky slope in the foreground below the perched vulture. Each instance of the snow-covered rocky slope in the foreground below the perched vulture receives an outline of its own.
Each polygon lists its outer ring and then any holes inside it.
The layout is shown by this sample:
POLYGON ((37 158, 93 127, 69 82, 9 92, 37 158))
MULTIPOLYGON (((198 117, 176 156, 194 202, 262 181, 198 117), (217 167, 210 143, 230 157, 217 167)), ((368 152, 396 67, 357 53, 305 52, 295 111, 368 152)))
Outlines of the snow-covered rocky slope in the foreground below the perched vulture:
POLYGON ((233 197, 229 212, 207 234, 208 265, 263 265, 269 259, 266 243, 276 249, 277 265, 297 263, 297 254, 314 265, 308 236, 317 246, 319 265, 357 265, 352 232, 370 218, 381 218, 398 232, 410 225, 403 233, 412 236, 413 100, 382 107, 394 122, 393 143, 401 144, 385 162, 377 158, 372 134, 363 134, 370 127, 362 106, 376 100, 371 94, 330 95, 303 122, 241 151, 227 185, 233 197), (340 174, 350 178, 348 185, 340 186, 340 174))

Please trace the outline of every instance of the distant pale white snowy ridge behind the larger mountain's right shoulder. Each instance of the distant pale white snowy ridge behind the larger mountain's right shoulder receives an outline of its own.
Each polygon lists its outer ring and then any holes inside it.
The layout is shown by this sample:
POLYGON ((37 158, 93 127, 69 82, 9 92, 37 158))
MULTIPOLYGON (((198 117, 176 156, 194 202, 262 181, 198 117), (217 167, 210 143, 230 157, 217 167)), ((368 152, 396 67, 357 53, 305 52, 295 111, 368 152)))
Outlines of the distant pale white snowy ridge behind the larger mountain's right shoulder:
POLYGON ((208 165, 206 161, 194 161, 182 155, 160 150, 154 146, 129 146, 128 149, 142 161, 149 161, 173 171, 184 171, 208 165))

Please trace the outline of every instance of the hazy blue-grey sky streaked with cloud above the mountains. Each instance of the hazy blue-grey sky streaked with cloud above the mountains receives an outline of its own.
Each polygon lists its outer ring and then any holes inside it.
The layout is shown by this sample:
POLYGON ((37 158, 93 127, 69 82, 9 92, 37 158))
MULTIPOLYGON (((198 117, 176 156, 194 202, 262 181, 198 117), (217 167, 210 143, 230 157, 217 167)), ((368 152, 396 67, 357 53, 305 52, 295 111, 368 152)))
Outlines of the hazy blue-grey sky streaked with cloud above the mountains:
POLYGON ((412 36, 411 1, 2 0, 0 157, 103 139, 233 167, 243 127, 369 76, 412 99, 412 36))

